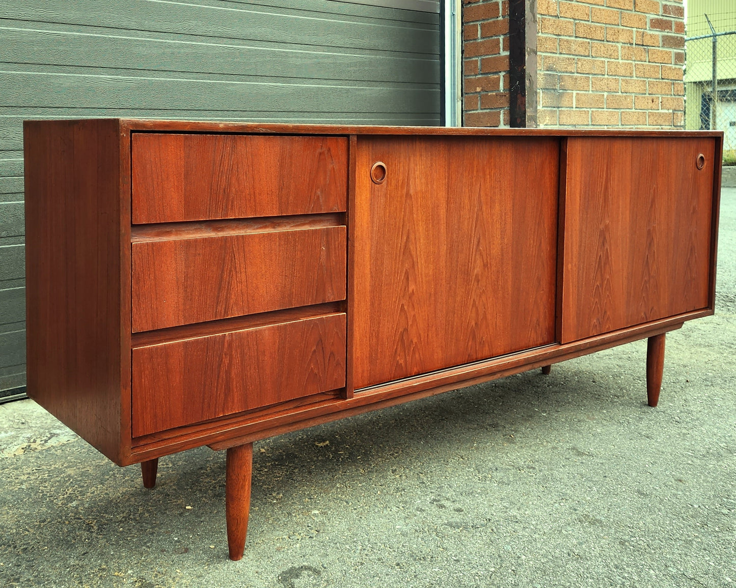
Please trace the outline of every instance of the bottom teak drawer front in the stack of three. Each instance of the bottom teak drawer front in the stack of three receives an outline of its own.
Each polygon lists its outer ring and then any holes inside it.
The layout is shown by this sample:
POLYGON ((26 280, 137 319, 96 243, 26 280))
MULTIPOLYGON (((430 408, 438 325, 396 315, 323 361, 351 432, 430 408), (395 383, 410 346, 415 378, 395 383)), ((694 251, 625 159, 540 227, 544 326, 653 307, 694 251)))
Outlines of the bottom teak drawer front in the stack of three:
POLYGON ((344 312, 134 348, 132 434, 344 385, 344 312))

